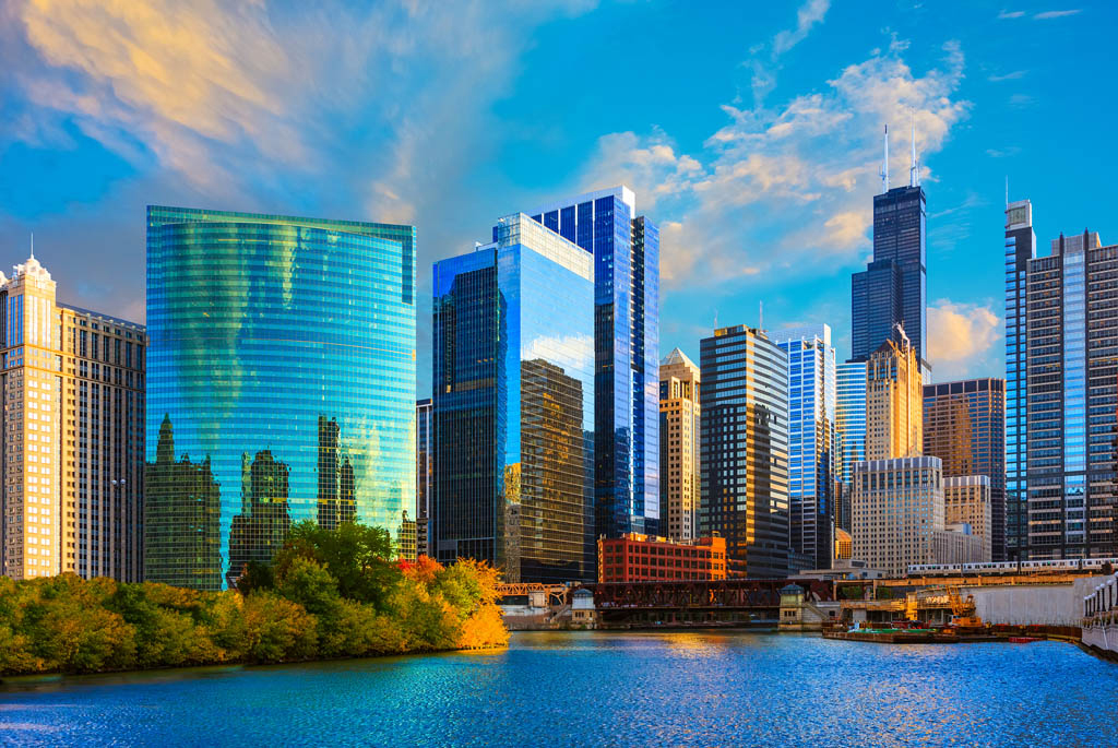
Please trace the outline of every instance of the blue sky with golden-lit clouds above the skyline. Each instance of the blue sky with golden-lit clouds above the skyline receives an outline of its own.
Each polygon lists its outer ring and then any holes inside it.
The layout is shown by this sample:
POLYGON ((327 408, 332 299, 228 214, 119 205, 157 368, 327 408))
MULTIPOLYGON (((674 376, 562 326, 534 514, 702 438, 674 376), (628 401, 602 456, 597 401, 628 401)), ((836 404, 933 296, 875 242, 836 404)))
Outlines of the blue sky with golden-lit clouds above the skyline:
POLYGON ((1042 247, 1118 240, 1116 29, 1057 0, 11 0, 0 262, 34 230, 64 300, 142 321, 143 209, 177 203, 414 222, 429 291, 494 218, 625 182, 661 226, 663 353, 764 301, 845 358, 881 126, 899 183, 915 110, 935 378, 997 376, 1005 178, 1042 247))

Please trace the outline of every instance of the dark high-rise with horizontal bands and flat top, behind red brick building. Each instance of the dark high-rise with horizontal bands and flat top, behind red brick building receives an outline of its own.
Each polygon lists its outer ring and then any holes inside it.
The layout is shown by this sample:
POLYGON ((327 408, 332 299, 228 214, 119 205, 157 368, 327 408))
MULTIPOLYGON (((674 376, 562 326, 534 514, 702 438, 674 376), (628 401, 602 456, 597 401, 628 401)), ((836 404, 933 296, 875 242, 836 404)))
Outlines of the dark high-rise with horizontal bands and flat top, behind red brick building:
POLYGON ((788 354, 746 325, 700 342, 700 533, 750 577, 788 572, 788 354))

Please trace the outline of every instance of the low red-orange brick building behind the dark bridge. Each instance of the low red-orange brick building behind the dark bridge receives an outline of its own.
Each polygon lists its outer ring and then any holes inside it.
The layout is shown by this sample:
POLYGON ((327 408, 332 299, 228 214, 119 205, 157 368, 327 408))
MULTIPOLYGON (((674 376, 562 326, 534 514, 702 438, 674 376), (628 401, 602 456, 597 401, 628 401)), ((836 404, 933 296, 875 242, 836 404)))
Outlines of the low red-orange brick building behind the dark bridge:
POLYGON ((626 533, 598 539, 598 581, 726 579, 726 539, 669 540, 626 533))

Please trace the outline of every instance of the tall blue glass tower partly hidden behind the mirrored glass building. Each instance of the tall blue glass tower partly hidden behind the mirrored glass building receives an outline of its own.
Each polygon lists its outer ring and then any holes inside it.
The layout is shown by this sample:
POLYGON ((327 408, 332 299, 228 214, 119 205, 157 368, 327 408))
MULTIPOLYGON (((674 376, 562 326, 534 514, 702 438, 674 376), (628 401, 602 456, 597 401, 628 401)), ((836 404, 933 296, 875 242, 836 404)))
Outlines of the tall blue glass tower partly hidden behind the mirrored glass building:
POLYGON ((594 256, 596 532, 656 534, 660 230, 636 215, 627 187, 558 200, 528 215, 594 256))

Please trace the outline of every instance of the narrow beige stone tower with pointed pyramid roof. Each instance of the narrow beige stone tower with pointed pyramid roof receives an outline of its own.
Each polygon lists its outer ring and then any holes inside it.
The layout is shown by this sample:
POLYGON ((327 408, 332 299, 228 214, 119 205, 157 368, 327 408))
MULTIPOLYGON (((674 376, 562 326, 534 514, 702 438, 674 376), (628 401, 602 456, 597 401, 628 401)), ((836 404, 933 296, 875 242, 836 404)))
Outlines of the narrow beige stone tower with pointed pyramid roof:
POLYGON ((699 367, 680 349, 660 362, 660 508, 667 537, 699 537, 699 367))

